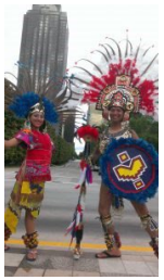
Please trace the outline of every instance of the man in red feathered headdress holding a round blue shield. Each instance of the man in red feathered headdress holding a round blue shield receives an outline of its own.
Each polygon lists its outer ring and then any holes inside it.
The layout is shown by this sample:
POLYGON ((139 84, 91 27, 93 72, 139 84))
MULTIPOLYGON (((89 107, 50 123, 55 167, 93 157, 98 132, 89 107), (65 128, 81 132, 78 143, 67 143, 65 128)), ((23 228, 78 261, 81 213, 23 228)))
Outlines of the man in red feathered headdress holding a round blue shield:
POLYGON ((139 44, 134 51, 128 38, 119 42, 106 38, 99 49, 92 51, 91 58, 79 60, 71 69, 72 90, 84 93, 84 102, 97 103, 96 109, 101 110, 104 118, 110 117, 111 120, 111 127, 100 137, 98 150, 92 155, 92 161, 101 155, 99 214, 106 244, 106 251, 96 254, 98 258, 121 257, 121 240, 111 215, 114 196, 116 208, 123 207, 121 196, 131 201, 143 228, 151 237, 150 245, 159 256, 159 228, 144 203, 148 198, 154 196, 157 189, 157 154, 125 125, 130 112, 140 111, 156 118, 157 54, 149 60, 150 50, 152 48, 143 50, 139 44), (126 43, 124 54, 123 42, 126 43), (122 151, 121 148, 125 147, 133 147, 133 152, 122 151), (141 155, 135 157, 138 151, 141 155))

